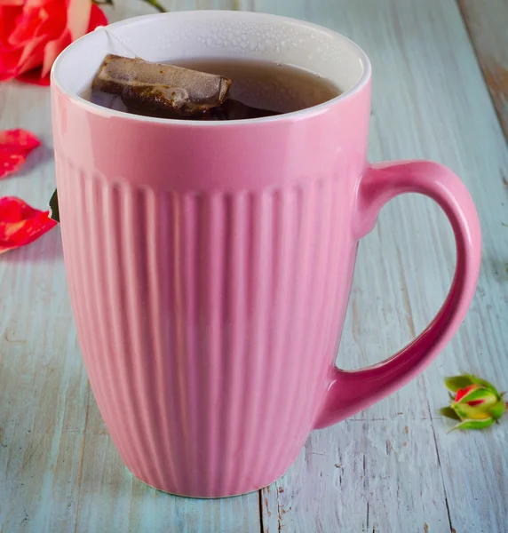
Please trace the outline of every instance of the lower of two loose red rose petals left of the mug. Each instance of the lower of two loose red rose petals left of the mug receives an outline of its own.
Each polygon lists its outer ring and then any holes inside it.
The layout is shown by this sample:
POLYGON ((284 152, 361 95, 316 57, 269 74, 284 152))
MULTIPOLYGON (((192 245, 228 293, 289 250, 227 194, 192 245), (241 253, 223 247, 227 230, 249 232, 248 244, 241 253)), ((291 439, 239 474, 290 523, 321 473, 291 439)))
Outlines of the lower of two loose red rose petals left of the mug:
POLYGON ((48 217, 49 211, 39 211, 20 198, 0 198, 0 254, 33 243, 58 222, 48 217))

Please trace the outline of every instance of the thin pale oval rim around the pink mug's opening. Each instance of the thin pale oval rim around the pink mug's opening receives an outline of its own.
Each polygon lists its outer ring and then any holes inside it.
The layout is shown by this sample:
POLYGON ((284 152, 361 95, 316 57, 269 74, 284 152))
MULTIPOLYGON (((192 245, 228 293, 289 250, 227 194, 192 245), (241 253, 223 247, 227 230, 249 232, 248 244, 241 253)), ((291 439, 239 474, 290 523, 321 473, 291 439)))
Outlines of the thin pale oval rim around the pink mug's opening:
POLYGON ((325 28, 324 26, 321 26, 319 24, 314 24, 314 22, 294 19, 292 17, 286 17, 283 15, 276 15, 276 14, 266 13, 266 12, 243 12, 243 11, 231 11, 231 10, 194 10, 194 11, 187 10, 187 11, 179 11, 179 12, 152 13, 148 15, 140 15, 138 17, 131 17, 129 19, 118 20, 117 22, 108 24, 107 28, 127 26, 130 24, 135 24, 139 22, 140 20, 155 19, 155 18, 161 18, 161 17, 175 17, 179 15, 188 15, 189 13, 194 13, 194 14, 200 13, 199 16, 202 16, 202 15, 207 15, 210 13, 217 13, 217 12, 227 13, 232 16, 242 15, 242 16, 247 16, 247 17, 252 17, 252 18, 269 17, 271 19, 280 20, 281 22, 286 21, 286 22, 290 22, 293 24, 298 24, 299 26, 303 26, 306 28, 319 29, 320 31, 323 31, 329 34, 329 36, 333 36, 335 38, 339 37, 343 41, 345 41, 347 44, 353 45, 353 48, 356 50, 358 54, 358 59, 361 61, 361 68, 362 68, 360 79, 348 90, 341 92, 339 95, 337 95, 333 99, 329 99, 326 102, 322 102, 321 104, 318 104, 317 106, 306 107, 305 109, 300 109, 298 111, 291 111, 290 113, 284 113, 282 115, 271 115, 271 116, 263 116, 260 118, 243 118, 243 119, 238 119, 238 120, 226 120, 226 121, 180 120, 178 118, 158 118, 155 116, 135 115, 132 113, 127 113, 125 111, 117 111, 115 109, 110 109, 109 107, 103 107, 103 106, 99 106, 98 104, 94 104, 90 100, 83 99, 81 96, 79 96, 79 94, 75 93, 74 91, 70 91, 63 84, 60 83, 58 70, 60 68, 60 62, 62 61, 62 58, 64 58, 64 56, 67 56, 68 53, 72 52, 72 49, 75 43, 78 43, 84 39, 90 38, 91 35, 94 33, 94 31, 97 31, 99 28, 105 28, 105 27, 99 27, 88 34, 85 34, 79 39, 76 39, 73 43, 69 44, 67 48, 65 48, 62 52, 60 52, 59 56, 53 62, 53 65, 52 65, 52 70, 51 70, 52 91, 59 91, 61 95, 66 97, 68 100, 70 100, 73 104, 77 105, 78 107, 82 107, 83 110, 86 111, 87 113, 91 113, 93 115, 99 115, 99 116, 102 116, 103 118, 121 118, 123 120, 133 121, 133 122, 153 123, 153 124, 159 123, 159 124, 167 124, 167 125, 173 125, 173 126, 178 125, 179 127, 191 127, 191 128, 221 127, 222 128, 222 127, 233 127, 233 126, 247 125, 247 124, 251 124, 252 126, 255 126, 255 125, 266 124, 266 123, 285 123, 285 122, 290 122, 293 120, 302 120, 302 119, 312 118, 314 116, 322 115, 326 113, 330 107, 334 107, 335 105, 339 103, 345 103, 348 99, 353 98, 355 94, 358 94, 359 92, 361 92, 369 84, 371 73, 372 73, 372 67, 370 64, 369 56, 352 39, 344 36, 343 34, 333 29, 325 28))

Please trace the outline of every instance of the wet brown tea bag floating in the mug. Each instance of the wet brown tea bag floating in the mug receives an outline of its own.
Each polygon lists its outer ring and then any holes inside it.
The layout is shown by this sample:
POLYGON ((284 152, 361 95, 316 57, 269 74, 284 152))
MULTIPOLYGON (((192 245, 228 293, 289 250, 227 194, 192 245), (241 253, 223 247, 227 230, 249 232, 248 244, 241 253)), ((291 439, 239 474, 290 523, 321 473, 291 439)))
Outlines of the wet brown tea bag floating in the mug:
POLYGON ((131 113, 186 118, 220 106, 230 85, 226 76, 108 54, 91 88, 120 96, 131 113))

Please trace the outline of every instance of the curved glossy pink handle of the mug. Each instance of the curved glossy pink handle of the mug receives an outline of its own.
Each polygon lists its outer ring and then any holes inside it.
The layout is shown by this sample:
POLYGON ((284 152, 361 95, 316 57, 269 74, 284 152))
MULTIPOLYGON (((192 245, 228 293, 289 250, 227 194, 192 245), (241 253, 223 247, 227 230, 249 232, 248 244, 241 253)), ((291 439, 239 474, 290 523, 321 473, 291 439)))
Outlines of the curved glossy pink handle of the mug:
POLYGON ((367 235, 385 203, 402 193, 428 196, 447 215, 456 240, 456 271, 451 288, 433 322, 400 352, 361 370, 331 369, 315 429, 368 408, 415 378, 453 337, 471 304, 480 273, 480 222, 462 181, 441 164, 399 161, 369 166, 356 190, 354 236, 359 240, 367 235))

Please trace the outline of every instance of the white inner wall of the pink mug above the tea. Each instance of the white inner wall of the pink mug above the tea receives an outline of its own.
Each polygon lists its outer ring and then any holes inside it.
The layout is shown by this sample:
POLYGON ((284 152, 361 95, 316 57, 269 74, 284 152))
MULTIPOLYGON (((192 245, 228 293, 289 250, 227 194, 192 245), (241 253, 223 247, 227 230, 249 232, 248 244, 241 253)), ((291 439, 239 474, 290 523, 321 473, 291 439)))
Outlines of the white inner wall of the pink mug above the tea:
POLYGON ((265 13, 194 11, 147 15, 96 29, 61 52, 52 84, 79 98, 108 53, 165 62, 274 61, 327 78, 343 96, 370 75, 361 48, 327 28, 265 13))

